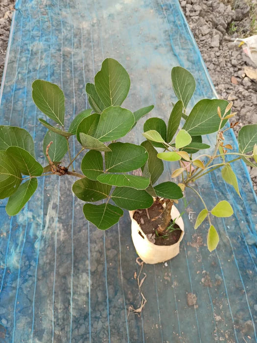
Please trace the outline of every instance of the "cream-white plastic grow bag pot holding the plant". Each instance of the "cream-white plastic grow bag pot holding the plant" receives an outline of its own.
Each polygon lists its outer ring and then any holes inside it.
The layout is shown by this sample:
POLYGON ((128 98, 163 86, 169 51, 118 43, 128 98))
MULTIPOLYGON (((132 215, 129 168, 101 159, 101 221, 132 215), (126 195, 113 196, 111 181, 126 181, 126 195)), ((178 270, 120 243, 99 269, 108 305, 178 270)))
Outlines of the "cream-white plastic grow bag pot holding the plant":
POLYGON ((173 205, 171 208, 171 219, 175 219, 175 223, 179 225, 181 228, 181 236, 177 243, 173 245, 155 245, 150 242, 146 235, 140 228, 140 225, 137 221, 133 218, 135 211, 129 211, 129 215, 131 218, 131 236, 136 251, 140 257, 140 259, 149 264, 161 263, 171 258, 177 256, 179 254, 179 245, 184 236, 184 222, 183 219, 180 217, 180 213, 178 209, 173 205))

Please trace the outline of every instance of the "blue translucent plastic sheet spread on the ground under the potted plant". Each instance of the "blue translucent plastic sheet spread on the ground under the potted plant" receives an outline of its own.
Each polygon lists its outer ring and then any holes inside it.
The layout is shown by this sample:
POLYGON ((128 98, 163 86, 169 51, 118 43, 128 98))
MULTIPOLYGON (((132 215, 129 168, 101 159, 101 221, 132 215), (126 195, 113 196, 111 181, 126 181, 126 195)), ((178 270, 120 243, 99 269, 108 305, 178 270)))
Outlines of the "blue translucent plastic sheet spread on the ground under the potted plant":
MULTIPOLYGON (((85 84, 105 57, 131 75, 125 106, 155 105, 168 118, 175 101, 170 71, 195 76, 191 101, 215 97, 210 77, 177 0, 19 0, 0 91, 0 123, 21 125, 36 141, 42 163, 46 129, 31 100, 36 78, 57 83, 66 96, 66 127, 88 107, 85 84)), ((142 123, 129 135, 140 143, 142 123)), ((206 138, 213 147, 215 137, 206 138)), ((235 146, 234 134, 227 143, 235 146)), ((77 150, 72 146, 72 151, 77 150)), ((79 163, 76 168, 79 167, 79 163)), ((170 177, 167 164, 163 180, 170 177)), ((256 342, 257 201, 245 165, 233 164, 242 200, 219 172, 196 189, 212 208, 228 198, 234 216, 215 219, 218 248, 206 246, 208 224, 193 229, 201 202, 187 192, 185 239, 167 264, 145 265, 141 317, 137 254, 125 213, 102 232, 88 223, 68 176, 41 177, 31 201, 9 218, 0 202, 0 342, 256 342), (195 306, 187 296, 196 294, 195 306)), ((184 202, 178 207, 184 210, 184 202)))

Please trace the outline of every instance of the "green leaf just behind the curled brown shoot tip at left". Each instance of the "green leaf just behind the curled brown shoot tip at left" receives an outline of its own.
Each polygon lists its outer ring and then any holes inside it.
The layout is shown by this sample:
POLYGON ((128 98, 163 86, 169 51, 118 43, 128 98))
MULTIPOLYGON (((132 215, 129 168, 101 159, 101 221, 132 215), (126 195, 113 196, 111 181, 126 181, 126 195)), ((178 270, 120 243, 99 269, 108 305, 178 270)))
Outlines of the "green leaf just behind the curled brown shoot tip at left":
MULTIPOLYGON (((66 152, 68 151, 67 139, 58 135, 55 132, 47 131, 43 141, 43 151, 47 159, 46 150, 47 145, 53 142, 49 148, 49 156, 52 161, 61 161, 66 152)), ((48 161, 48 159, 47 159, 48 161)))

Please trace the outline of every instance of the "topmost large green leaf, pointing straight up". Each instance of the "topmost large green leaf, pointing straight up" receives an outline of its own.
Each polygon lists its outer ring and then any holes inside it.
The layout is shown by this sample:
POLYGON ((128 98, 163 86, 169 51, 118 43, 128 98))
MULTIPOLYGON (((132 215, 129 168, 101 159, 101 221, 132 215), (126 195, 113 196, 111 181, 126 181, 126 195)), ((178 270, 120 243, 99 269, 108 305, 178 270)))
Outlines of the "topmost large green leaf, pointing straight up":
POLYGON ((129 74, 116 60, 106 58, 94 77, 94 85, 105 107, 120 106, 129 92, 129 74))

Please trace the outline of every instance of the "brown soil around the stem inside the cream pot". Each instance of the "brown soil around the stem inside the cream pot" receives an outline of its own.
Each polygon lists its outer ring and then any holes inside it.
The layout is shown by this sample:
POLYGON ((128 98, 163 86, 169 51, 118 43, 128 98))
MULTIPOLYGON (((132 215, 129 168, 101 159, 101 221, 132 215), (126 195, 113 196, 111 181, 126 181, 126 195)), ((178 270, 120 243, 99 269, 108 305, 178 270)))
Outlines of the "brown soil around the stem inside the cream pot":
MULTIPOLYGON (((158 229, 159 224, 162 222, 159 216, 163 210, 164 208, 161 203, 154 202, 153 205, 147 210, 148 215, 145 209, 137 210, 134 213, 133 218, 138 222, 141 230, 145 235, 147 235, 147 238, 150 242, 154 243, 155 245, 173 245, 178 242, 182 233, 182 230, 176 223, 171 221, 170 224, 172 224, 172 228, 166 230, 163 236, 158 236, 156 234, 156 230, 158 229)), ((174 220, 175 218, 172 219, 174 220)))

